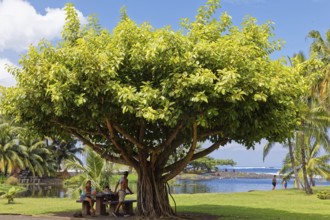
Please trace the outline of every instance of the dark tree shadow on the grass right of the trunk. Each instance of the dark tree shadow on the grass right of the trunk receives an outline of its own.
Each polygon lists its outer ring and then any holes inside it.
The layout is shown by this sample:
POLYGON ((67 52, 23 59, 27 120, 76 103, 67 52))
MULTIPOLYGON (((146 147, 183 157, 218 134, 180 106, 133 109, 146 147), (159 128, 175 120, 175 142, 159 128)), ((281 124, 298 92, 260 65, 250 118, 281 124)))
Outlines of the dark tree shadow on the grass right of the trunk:
MULTIPOLYGON (((192 210, 202 210, 208 216, 218 216, 221 220, 249 219, 249 220, 328 220, 330 215, 314 213, 293 213, 285 210, 270 208, 251 208, 241 206, 207 205, 199 206, 178 206, 178 212, 191 212, 192 210)), ((199 213, 202 215, 202 213, 199 213)), ((201 218, 203 219, 203 218, 201 218)), ((206 219, 206 218, 204 218, 206 219)))

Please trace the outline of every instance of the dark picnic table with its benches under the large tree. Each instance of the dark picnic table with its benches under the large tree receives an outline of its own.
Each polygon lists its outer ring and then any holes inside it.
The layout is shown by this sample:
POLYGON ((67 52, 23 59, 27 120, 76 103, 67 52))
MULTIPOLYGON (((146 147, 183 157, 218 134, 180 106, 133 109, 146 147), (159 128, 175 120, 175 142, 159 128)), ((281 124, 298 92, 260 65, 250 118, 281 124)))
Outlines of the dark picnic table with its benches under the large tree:
MULTIPOLYGON (((89 203, 86 200, 76 200, 76 202, 82 203, 82 214, 83 215, 89 215, 90 214, 90 207, 89 203)), ((136 202, 136 200, 125 200, 124 201, 124 212, 130 215, 133 215, 133 203, 136 202)), ((112 212, 115 211, 115 208, 118 201, 118 196, 116 194, 113 194, 110 196, 108 194, 104 193, 97 193, 94 199, 95 203, 95 214, 96 215, 106 215, 106 208, 109 206, 109 215, 111 215, 112 212)))

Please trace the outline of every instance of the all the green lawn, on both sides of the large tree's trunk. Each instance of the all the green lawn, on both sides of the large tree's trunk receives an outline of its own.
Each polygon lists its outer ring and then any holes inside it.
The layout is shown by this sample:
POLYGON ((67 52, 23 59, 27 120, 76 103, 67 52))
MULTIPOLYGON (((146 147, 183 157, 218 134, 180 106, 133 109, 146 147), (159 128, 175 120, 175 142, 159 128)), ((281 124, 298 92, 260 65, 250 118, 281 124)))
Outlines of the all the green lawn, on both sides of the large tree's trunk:
MULTIPOLYGON (((321 190, 330 191, 330 187, 315 188, 313 195, 289 189, 245 193, 176 194, 174 197, 178 212, 207 213, 219 216, 221 220, 330 219, 330 200, 320 200, 316 196, 321 190)), ((81 204, 76 203, 75 199, 16 198, 15 204, 11 205, 8 205, 6 200, 0 200, 0 213, 52 215, 74 213, 80 208, 81 204)))

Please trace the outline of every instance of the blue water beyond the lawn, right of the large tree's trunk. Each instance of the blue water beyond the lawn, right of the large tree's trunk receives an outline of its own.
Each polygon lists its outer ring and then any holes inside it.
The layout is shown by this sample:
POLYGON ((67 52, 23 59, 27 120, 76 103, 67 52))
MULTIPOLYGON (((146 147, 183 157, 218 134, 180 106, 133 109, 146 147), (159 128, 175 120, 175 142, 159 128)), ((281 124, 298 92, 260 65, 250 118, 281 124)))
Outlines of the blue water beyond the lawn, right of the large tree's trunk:
MULTIPOLYGON (((259 174, 278 174, 279 168, 274 167, 220 167, 221 171, 227 169, 227 172, 247 172, 259 174)), ((327 181, 318 181, 319 185, 330 185, 327 181)), ((282 189, 281 179, 277 179, 276 189, 282 189)), ((293 188, 293 180, 288 181, 288 188, 293 188)), ((215 178, 209 180, 177 180, 176 184, 171 186, 171 193, 231 193, 248 192, 251 190, 271 190, 272 180, 255 178, 215 178)))

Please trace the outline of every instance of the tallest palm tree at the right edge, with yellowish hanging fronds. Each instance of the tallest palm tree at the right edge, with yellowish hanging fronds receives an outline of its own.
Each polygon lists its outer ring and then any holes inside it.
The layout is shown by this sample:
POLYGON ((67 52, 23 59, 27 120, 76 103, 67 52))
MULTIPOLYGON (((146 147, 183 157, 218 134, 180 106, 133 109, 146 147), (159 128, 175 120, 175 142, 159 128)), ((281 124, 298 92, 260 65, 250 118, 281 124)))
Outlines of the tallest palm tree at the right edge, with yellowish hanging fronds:
MULTIPOLYGON (((312 193, 312 189, 307 180, 306 170, 306 153, 308 153, 308 145, 305 142, 305 138, 309 136, 317 137, 319 134, 329 127, 329 44, 325 44, 318 32, 312 31, 309 36, 314 38, 314 43, 311 45, 312 59, 311 61, 305 61, 302 53, 294 57, 293 67, 298 67, 296 70, 300 70, 301 74, 306 77, 306 81, 310 83, 309 93, 298 102, 301 106, 301 126, 297 128, 296 139, 299 142, 301 164, 303 171, 303 179, 305 184, 305 191, 308 194, 312 193), (318 50, 318 51, 316 51, 318 50), (323 62, 322 69, 318 65, 314 65, 315 52, 318 53, 318 58, 323 62), (328 57, 326 56, 328 53, 328 57), (314 54, 314 55, 313 55, 314 54)), ((330 32, 328 32, 330 37, 330 32)), ((328 38, 328 41, 330 38, 328 38)), ((329 41, 330 42, 330 41, 329 41)), ((298 100, 299 101, 299 100, 298 100)))

